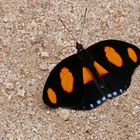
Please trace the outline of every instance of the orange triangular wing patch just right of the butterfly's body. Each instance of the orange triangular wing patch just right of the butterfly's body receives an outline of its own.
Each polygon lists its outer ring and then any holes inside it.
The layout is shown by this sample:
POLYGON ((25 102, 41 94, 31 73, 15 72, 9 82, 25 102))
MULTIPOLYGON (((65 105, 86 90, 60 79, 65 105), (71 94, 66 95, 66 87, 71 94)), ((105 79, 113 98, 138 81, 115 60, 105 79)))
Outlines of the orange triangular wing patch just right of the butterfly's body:
POLYGON ((96 68, 98 74, 102 77, 103 75, 109 73, 104 67, 102 67, 99 63, 96 61, 93 62, 94 67, 96 68))

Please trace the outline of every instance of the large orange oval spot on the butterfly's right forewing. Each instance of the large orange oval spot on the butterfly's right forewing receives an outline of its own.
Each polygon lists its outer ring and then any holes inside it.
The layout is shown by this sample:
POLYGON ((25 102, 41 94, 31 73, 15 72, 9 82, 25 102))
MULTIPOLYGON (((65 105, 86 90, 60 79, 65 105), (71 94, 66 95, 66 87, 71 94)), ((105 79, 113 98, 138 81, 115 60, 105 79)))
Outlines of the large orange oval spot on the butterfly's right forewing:
POLYGON ((123 65, 121 56, 115 51, 114 48, 106 46, 104 51, 109 62, 116 65, 117 67, 121 67, 123 65))

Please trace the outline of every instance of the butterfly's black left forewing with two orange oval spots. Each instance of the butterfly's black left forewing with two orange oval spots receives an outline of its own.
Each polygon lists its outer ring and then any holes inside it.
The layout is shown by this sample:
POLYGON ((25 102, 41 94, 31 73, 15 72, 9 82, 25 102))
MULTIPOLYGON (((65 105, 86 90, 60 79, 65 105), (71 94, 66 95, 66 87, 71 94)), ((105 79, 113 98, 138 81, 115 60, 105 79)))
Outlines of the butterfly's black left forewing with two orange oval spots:
POLYGON ((50 107, 71 107, 83 101, 82 64, 78 56, 62 60, 51 71, 43 91, 43 101, 50 107))

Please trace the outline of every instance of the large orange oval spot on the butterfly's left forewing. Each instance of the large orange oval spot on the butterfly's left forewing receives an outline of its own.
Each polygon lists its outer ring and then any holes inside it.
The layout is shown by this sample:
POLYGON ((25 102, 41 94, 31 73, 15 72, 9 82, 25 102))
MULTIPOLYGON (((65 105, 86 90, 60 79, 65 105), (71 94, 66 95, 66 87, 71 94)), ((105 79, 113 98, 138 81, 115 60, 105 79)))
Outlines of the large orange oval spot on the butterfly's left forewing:
POLYGON ((68 68, 63 67, 60 72, 61 86, 63 90, 71 93, 74 85, 74 77, 68 68))

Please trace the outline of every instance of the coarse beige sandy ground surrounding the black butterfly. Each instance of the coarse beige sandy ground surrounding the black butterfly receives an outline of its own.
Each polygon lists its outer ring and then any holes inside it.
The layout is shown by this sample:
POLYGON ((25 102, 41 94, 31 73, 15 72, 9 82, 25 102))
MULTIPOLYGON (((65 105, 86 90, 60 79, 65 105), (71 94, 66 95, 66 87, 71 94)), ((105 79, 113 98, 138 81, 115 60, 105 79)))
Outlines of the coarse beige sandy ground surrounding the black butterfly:
POLYGON ((129 90, 91 111, 42 102, 51 69, 75 52, 61 17, 83 44, 120 39, 140 46, 139 0, 0 0, 0 139, 139 140, 140 67, 129 90))

